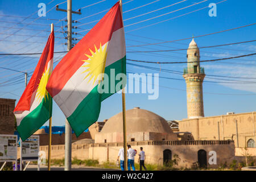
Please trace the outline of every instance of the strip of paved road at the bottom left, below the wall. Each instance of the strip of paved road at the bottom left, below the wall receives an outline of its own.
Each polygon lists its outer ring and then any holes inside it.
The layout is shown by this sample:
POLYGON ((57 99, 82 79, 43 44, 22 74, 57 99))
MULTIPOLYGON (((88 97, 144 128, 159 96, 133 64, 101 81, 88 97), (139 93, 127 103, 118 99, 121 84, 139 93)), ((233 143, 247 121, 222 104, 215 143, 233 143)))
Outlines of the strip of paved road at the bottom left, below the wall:
MULTIPOLYGON (((40 166, 40 171, 47 171, 47 166, 40 166)), ((26 171, 38 171, 38 166, 30 164, 26 171)), ((51 167, 51 171, 64 171, 64 167, 51 167)), ((90 168, 90 167, 79 167, 72 166, 71 171, 119 171, 119 169, 104 169, 104 168, 90 168)))

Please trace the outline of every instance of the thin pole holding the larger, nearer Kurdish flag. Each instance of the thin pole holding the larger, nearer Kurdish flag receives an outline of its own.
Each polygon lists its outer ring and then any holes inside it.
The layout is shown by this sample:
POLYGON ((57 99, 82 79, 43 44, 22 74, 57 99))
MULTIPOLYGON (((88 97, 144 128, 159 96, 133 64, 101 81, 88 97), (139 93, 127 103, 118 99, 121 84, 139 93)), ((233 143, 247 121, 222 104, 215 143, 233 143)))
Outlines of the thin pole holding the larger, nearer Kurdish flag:
MULTIPOLYGON (((123 19, 122 0, 119 0, 121 15, 123 19)), ((123 22, 123 20, 122 20, 123 22)), ((126 140, 126 115, 125 115, 125 88, 122 89, 122 107, 123 107, 123 153, 125 156, 124 168, 127 171, 127 140, 126 140)))

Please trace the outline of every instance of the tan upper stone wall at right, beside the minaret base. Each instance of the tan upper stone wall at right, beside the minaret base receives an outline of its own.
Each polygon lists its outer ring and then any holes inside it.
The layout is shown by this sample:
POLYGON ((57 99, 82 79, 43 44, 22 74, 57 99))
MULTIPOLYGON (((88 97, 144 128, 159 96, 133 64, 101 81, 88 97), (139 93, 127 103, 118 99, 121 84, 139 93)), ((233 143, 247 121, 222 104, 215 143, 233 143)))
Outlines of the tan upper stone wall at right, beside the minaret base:
POLYGON ((247 147, 249 139, 253 139, 256 142, 255 121, 256 113, 254 112, 183 119, 179 121, 179 130, 180 132, 191 132, 196 140, 230 139, 234 140, 236 147, 244 148, 247 147), (238 129, 238 137, 236 128, 238 129))

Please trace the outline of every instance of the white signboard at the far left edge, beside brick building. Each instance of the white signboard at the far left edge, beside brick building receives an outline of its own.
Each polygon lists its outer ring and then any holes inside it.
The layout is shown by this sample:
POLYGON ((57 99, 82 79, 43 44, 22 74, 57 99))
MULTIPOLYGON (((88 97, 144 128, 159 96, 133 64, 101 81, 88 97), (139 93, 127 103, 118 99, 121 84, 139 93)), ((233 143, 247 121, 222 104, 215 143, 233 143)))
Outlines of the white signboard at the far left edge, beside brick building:
POLYGON ((0 135, 0 160, 17 159, 17 135, 0 135))

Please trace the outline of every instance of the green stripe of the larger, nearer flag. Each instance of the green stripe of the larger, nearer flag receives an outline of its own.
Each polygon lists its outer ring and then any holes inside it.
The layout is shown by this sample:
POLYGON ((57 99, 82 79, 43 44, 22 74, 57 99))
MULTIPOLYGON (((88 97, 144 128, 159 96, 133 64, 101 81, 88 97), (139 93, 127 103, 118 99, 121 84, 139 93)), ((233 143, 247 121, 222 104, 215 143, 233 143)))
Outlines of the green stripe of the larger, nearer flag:
MULTIPOLYGON (((115 63, 105 68, 105 73, 109 76, 109 91, 110 91, 110 69, 115 69, 115 76, 119 73, 126 74, 126 56, 122 59, 115 61, 115 63)), ((120 80, 115 81, 115 85, 120 80)), ((126 84, 126 80, 125 80, 126 84)), ((115 90, 115 93, 121 90, 115 90)), ((97 121, 100 115, 101 102, 106 98, 112 96, 114 93, 98 93, 98 85, 95 86, 92 91, 82 100, 77 106, 76 110, 67 118, 73 131, 75 131, 76 137, 79 137, 84 130, 88 129, 90 125, 97 121)))

